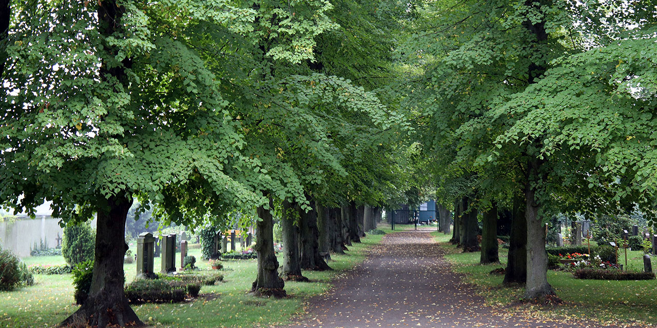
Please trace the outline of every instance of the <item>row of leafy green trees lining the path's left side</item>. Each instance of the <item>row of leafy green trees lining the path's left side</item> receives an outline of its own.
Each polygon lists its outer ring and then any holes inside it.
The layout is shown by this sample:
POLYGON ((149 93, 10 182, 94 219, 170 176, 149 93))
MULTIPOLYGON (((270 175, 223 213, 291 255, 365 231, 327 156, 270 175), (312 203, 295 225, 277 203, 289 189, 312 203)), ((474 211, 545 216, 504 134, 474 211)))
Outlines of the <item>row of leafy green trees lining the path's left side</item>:
POLYGON ((123 291, 135 199, 191 228, 252 213, 238 217, 257 221, 253 291, 277 295, 277 209, 286 244, 302 239, 294 276, 358 240, 357 205, 417 198, 386 78, 407 15, 396 1, 0 1, 0 203, 97 216, 89 297, 64 324, 141 324, 123 291))

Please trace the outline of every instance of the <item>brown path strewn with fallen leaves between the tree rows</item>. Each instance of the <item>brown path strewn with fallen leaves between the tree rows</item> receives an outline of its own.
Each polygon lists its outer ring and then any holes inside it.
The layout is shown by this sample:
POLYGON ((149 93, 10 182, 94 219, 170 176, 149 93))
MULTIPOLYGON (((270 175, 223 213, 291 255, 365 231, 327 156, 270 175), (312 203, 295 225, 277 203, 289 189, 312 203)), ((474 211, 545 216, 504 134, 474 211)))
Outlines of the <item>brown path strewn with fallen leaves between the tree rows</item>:
POLYGON ((363 264, 335 281, 334 291, 311 299, 308 315, 290 328, 599 327, 503 318, 442 255, 428 231, 389 234, 363 264))

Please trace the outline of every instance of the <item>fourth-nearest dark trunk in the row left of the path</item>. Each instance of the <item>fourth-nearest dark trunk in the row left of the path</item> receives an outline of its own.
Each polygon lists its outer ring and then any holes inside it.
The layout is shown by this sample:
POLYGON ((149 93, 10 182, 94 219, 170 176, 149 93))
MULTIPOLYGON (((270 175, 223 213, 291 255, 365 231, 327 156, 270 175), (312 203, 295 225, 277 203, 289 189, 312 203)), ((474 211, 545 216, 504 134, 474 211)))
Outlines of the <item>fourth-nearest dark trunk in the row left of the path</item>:
MULTIPOLYGON (((309 197, 308 197, 309 198, 309 197)), ((309 198, 310 199, 310 198, 309 198)), ((317 229, 317 209, 315 201, 310 200, 311 210, 306 213, 299 209, 301 228, 301 268, 304 270, 332 270, 319 255, 319 230, 317 229)))

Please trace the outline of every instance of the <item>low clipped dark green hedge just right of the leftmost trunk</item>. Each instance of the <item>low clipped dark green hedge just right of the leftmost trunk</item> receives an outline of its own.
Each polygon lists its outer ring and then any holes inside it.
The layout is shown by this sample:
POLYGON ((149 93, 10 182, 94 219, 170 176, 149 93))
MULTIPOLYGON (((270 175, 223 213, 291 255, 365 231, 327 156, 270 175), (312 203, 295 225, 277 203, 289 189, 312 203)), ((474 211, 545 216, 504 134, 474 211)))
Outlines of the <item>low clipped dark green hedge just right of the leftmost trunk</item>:
POLYGON ((133 303, 183 302, 198 297, 200 283, 173 279, 137 279, 125 286, 125 297, 133 303))

